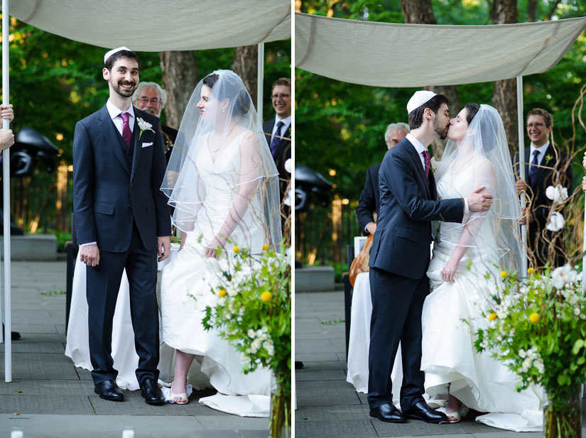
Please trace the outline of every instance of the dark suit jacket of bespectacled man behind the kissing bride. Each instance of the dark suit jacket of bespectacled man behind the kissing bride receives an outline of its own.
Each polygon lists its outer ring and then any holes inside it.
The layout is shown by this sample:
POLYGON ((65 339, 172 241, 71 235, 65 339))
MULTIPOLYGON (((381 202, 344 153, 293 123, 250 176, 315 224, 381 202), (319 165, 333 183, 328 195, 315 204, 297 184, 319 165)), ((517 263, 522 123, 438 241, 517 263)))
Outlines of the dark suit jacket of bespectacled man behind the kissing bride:
MULTIPOLYGON (((531 153, 531 148, 525 149, 525 180, 529 181, 529 165, 530 158, 529 154, 531 153)), ((527 241, 529 248, 531 251, 535 253, 537 258, 538 266, 544 266, 548 261, 548 249, 550 244, 543 239, 542 231, 545 231, 545 234, 548 240, 551 241, 553 239, 553 233, 546 229, 547 222, 548 222, 548 215, 550 212, 551 205, 553 201, 546 197, 546 190, 550 185, 555 185, 558 182, 554 182, 553 178, 555 177, 555 173, 560 173, 562 176, 562 181, 560 182, 561 185, 568 189, 568 194, 572 190, 572 163, 568 164, 568 154, 558 150, 558 157, 559 160, 556 160, 556 148, 554 148, 551 143, 546 150, 546 155, 541 160, 541 165, 537 170, 537 174, 531 181, 531 190, 533 190, 533 199, 531 200, 531 213, 533 214, 533 222, 528 226, 528 233, 527 233, 527 241), (550 160, 548 160, 548 156, 550 160), (565 165, 568 165, 568 168, 563 171, 565 165), (553 169, 548 169, 554 168, 553 169)), ((514 170, 515 170, 515 177, 519 176, 519 153, 516 153, 513 158, 514 170)), ((563 212, 562 212, 563 213, 563 212)), ((563 248, 563 234, 558 236, 557 241, 555 242, 555 246, 560 246, 563 248)), ((561 266, 565 263, 565 258, 563 256, 562 251, 556 251, 555 253, 555 266, 561 266)))

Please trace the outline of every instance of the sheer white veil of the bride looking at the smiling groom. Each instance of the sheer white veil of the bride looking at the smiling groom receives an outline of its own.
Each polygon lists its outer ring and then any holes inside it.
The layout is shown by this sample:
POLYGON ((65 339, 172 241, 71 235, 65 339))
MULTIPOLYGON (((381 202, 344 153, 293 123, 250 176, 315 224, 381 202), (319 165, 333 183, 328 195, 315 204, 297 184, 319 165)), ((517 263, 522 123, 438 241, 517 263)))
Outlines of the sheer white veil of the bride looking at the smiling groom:
MULTIPOLYGON (((173 225, 192 231, 198 220, 219 202, 207 192, 210 173, 227 182, 234 204, 228 217, 233 226, 224 230, 231 239, 234 231, 246 236, 264 236, 269 246, 281 243, 281 209, 278 171, 268 149, 262 121, 240 77, 231 70, 216 70, 201 80, 188 102, 167 166, 161 190, 175 207, 173 225), (202 98, 202 89, 211 87, 202 98), (204 99, 205 109, 198 108, 204 99), (240 160, 227 165, 234 153, 240 160), (199 160, 207 154, 209 160, 199 160), (202 163, 207 165, 202 166, 202 163), (206 173, 207 179, 202 175, 206 173), (246 220, 243 220, 246 217, 246 220)), ((217 220, 217 219, 215 219, 217 220)), ((222 224, 217 224, 221 226, 222 224)), ((213 236, 208 236, 209 241, 213 236)), ((250 243, 246 241, 246 244, 250 243)))

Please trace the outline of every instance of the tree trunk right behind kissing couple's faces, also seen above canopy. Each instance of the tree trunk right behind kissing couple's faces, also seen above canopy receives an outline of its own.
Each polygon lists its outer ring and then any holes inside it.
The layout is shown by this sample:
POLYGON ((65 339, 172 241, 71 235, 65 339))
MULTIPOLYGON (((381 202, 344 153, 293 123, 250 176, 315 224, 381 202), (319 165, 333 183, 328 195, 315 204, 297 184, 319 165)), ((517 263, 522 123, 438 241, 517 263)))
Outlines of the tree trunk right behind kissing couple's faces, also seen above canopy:
MULTIPOLYGON (((403 20, 405 23, 416 24, 438 24, 433 14, 431 0, 401 0, 401 11, 403 11, 403 20)), ((460 98, 455 85, 441 85, 425 87, 437 94, 443 94, 447 97, 450 114, 457 114, 462 109, 460 98)), ((441 158, 445 148, 445 140, 439 138, 431 143, 433 156, 441 158)))

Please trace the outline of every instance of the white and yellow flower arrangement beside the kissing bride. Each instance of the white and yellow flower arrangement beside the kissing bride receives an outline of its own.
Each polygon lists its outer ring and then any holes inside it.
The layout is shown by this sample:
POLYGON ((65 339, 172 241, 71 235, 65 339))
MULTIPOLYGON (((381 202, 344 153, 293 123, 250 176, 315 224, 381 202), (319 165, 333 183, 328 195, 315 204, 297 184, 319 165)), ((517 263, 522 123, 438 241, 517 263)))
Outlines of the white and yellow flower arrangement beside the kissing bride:
POLYGON ((526 279, 502 271, 499 283, 482 313, 489 324, 477 329, 475 348, 491 351, 514 371, 518 390, 546 389, 546 436, 580 437, 580 404, 571 403, 586 382, 586 292, 580 275, 570 265, 541 273, 529 268, 526 279))

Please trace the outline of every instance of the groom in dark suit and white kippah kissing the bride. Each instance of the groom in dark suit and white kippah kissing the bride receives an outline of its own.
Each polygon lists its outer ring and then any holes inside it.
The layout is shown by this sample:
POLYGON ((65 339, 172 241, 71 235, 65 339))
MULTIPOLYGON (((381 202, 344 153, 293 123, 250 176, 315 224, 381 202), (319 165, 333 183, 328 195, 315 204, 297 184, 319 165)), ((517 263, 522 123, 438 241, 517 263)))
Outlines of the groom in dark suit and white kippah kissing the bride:
POLYGON ((421 311, 429 293, 431 221, 462 222, 468 212, 487 211, 492 195, 477 187, 467 198, 436 199, 428 146, 450 126, 447 99, 419 91, 407 104, 411 133, 391 148, 379 171, 380 212, 370 256, 372 314, 369 346, 371 417, 447 422, 423 400, 421 311), (399 341, 403 356, 401 411, 393 405, 391 371, 399 341))

